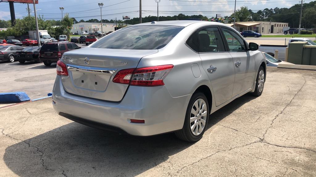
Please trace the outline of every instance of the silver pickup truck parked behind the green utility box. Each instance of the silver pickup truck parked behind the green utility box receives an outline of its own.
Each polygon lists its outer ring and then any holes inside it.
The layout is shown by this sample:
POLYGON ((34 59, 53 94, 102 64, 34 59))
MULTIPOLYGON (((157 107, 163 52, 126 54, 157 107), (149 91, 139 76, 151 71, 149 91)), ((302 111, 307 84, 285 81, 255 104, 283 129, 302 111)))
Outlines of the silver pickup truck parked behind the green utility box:
MULTIPOLYGON (((296 41, 307 42, 307 45, 316 45, 316 43, 314 43, 312 40, 309 40, 309 39, 303 38, 303 37, 291 38, 289 40, 289 43, 296 42, 296 41)), ((275 54, 275 50, 278 50, 279 51, 278 59, 284 61, 286 47, 288 47, 288 46, 287 45, 260 45, 258 50, 261 52, 265 52, 273 57, 275 54)))

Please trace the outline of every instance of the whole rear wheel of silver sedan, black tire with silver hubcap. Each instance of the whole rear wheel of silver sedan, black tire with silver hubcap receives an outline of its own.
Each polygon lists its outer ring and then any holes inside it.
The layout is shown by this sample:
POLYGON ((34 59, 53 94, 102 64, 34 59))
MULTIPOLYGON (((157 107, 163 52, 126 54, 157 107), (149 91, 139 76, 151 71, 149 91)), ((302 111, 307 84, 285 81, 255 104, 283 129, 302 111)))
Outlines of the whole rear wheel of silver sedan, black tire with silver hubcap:
POLYGON ((208 120, 209 104, 206 96, 201 92, 194 93, 186 110, 183 128, 174 133, 181 140, 189 142, 198 141, 202 138, 207 128, 208 120), (195 112, 196 110, 199 111, 195 112), (199 130, 200 127, 201 130, 199 130))

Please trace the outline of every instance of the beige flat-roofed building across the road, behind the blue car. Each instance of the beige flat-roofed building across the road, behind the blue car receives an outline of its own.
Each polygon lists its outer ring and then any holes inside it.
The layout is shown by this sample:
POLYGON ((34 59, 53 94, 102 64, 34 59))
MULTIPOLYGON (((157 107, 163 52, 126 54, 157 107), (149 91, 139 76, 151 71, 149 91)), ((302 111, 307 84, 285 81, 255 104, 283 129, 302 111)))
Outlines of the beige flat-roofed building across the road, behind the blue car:
MULTIPOLYGON (((234 23, 228 24, 234 26, 234 23)), ((288 27, 289 23, 269 22, 269 21, 245 21, 235 22, 237 31, 255 31, 262 34, 283 33, 283 27, 288 27)))

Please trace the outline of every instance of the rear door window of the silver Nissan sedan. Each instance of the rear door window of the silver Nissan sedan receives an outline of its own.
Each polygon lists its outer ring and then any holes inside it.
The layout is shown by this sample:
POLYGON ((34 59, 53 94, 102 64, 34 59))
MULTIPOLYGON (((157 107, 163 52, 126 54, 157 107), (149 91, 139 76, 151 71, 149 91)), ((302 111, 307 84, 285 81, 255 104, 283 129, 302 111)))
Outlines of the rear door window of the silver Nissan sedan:
POLYGON ((199 52, 225 52, 224 43, 217 27, 198 31, 199 52))

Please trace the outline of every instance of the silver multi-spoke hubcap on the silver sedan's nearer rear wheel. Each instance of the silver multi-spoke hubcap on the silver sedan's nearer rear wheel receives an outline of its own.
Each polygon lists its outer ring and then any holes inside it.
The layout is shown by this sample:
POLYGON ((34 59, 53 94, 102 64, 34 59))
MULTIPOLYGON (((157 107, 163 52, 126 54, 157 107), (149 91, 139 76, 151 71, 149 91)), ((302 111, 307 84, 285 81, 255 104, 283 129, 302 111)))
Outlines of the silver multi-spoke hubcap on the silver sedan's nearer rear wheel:
POLYGON ((190 129, 193 135, 201 134, 205 128, 207 118, 207 106, 203 99, 197 99, 192 108, 190 116, 190 129))

